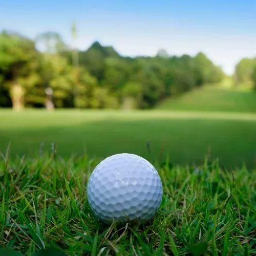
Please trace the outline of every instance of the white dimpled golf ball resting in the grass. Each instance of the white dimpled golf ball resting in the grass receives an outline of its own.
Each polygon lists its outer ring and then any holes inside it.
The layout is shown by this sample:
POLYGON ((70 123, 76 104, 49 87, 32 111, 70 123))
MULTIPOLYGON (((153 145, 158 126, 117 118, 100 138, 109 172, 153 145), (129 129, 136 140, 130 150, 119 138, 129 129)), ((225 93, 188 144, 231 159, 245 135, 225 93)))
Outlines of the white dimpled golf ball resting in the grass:
POLYGON ((133 154, 117 154, 101 161, 88 183, 88 200, 103 221, 151 219, 162 200, 163 188, 155 167, 133 154))

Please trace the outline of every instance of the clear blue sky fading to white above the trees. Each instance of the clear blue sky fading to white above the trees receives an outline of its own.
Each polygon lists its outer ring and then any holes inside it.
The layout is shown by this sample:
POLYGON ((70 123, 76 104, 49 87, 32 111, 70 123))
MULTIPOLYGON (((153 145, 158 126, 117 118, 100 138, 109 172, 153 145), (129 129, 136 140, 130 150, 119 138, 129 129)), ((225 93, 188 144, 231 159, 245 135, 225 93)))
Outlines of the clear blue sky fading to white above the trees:
POLYGON ((232 74, 241 58, 256 56, 255 13, 256 0, 0 0, 0 30, 31 38, 56 31, 80 50, 97 40, 131 57, 202 51, 232 74))

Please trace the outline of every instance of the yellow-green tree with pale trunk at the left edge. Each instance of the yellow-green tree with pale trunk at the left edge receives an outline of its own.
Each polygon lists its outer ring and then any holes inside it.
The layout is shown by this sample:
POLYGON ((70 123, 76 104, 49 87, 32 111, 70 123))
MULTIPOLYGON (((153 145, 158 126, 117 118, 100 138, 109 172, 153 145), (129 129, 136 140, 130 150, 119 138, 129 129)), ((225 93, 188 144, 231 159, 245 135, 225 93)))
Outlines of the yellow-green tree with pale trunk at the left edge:
POLYGON ((15 110, 24 108, 26 94, 39 83, 38 59, 32 40, 13 32, 0 34, 0 73, 15 110))

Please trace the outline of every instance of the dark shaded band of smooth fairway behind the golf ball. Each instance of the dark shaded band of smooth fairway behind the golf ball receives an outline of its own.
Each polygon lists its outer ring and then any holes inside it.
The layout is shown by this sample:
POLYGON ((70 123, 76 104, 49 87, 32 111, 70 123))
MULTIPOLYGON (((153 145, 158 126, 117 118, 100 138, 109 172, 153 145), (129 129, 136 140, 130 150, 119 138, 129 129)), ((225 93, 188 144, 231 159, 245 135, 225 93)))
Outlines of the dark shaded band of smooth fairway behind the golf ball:
POLYGON ((256 122, 236 120, 157 119, 99 120, 75 125, 33 126, 1 131, 0 150, 10 143, 11 156, 36 156, 41 143, 65 157, 88 154, 106 157, 128 152, 149 160, 164 161, 166 155, 175 164, 202 163, 205 156, 218 158, 220 165, 248 167, 256 162, 256 122))

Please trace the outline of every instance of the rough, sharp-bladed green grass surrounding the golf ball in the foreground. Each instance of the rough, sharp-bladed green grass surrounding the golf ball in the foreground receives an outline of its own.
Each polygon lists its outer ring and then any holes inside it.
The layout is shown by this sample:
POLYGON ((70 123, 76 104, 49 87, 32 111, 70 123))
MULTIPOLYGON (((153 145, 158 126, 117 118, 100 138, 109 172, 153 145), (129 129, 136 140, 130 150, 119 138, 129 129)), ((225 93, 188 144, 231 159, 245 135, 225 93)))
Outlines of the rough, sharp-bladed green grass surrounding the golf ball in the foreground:
POLYGON ((101 159, 11 159, 7 151, 0 159, 0 246, 28 256, 48 247, 67 255, 255 254, 256 172, 166 159, 153 162, 164 189, 156 216, 144 225, 105 225, 86 193, 101 159))

